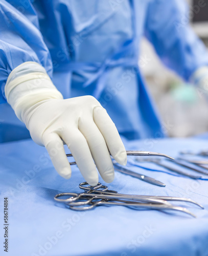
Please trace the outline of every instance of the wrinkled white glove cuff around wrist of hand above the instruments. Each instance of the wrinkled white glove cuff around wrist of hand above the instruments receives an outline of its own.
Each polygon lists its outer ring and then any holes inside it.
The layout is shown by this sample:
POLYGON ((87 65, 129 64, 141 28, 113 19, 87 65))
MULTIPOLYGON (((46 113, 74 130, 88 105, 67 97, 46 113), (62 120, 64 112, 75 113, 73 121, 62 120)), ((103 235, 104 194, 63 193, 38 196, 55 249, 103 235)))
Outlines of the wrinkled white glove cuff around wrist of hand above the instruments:
POLYGON ((16 116, 24 122, 24 113, 34 104, 47 99, 62 99, 45 69, 36 62, 25 62, 9 75, 5 95, 16 116))

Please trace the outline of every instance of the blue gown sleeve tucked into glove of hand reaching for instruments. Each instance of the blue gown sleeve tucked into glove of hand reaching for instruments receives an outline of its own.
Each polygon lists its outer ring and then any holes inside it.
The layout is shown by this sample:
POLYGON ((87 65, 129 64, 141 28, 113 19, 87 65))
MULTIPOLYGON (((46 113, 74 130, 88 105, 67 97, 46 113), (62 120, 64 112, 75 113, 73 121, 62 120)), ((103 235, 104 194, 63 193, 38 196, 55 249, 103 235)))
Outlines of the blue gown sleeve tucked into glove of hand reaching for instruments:
POLYGON ((6 103, 4 88, 14 68, 35 61, 52 78, 53 65, 31 1, 1 0, 0 24, 0 103, 6 103))

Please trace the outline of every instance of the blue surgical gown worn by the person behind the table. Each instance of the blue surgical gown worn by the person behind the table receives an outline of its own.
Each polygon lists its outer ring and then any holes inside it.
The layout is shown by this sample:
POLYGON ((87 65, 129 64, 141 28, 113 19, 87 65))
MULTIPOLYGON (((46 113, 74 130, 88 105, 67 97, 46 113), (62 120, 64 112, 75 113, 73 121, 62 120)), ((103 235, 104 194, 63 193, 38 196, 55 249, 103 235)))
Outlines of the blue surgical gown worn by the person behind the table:
POLYGON ((25 61, 40 63, 64 98, 95 96, 128 139, 163 137, 138 46, 146 36, 165 65, 188 80, 208 56, 184 24, 187 13, 182 0, 1 0, 0 141, 28 134, 17 129, 4 93, 8 75, 25 61))

